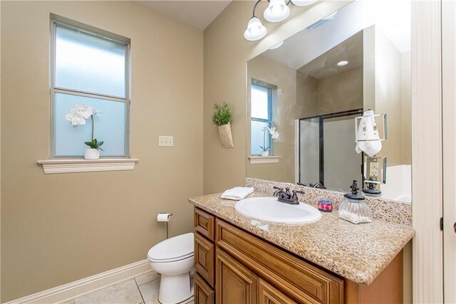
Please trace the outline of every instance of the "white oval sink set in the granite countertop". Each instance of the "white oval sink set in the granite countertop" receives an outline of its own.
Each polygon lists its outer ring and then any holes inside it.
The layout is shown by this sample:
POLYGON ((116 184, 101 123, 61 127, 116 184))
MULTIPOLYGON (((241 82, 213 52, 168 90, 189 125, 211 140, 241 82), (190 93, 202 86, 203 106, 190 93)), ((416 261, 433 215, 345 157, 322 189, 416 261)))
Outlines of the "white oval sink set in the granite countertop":
POLYGON ((299 203, 291 205, 277 201, 276 197, 250 197, 234 205, 244 216, 282 224, 304 224, 318 221, 321 213, 313 206, 299 203))

